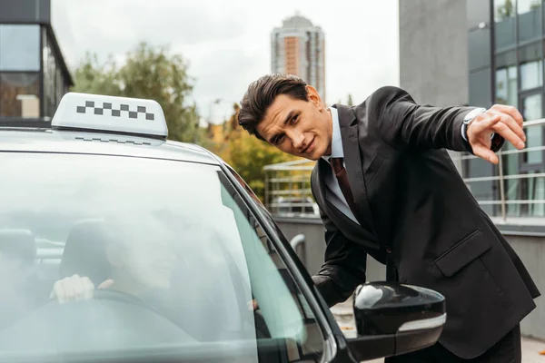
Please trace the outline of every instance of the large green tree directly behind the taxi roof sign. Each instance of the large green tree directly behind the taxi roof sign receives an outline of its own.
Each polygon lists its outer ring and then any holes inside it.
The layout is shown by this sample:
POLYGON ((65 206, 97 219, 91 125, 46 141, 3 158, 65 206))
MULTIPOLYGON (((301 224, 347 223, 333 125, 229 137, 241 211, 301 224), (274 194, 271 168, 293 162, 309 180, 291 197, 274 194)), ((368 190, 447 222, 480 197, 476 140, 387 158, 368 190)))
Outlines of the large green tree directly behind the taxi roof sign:
POLYGON ((99 64, 95 55, 87 54, 74 72, 73 91, 153 99, 163 107, 168 138, 193 142, 200 132, 199 115, 196 105, 187 103, 193 91, 187 68, 182 55, 141 43, 119 68, 112 57, 99 64))

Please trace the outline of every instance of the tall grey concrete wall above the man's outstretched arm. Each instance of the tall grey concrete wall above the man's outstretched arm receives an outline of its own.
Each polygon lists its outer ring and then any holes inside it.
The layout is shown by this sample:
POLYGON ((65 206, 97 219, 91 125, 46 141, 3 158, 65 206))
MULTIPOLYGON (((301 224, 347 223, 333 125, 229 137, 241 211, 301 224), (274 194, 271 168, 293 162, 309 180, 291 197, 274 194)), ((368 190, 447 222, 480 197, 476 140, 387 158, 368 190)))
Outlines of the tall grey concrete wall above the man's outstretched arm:
POLYGON ((400 0, 400 85, 417 103, 466 104, 466 0, 400 0))

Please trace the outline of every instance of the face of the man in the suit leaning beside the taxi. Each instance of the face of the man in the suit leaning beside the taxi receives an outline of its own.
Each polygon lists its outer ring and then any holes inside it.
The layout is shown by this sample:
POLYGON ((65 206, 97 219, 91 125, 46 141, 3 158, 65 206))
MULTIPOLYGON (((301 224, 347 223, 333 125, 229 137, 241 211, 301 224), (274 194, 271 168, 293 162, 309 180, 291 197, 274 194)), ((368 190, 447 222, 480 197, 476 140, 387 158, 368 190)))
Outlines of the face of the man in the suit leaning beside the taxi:
POLYGON ((257 132, 282 152, 318 160, 332 150, 332 119, 314 88, 309 101, 281 94, 271 104, 257 132))

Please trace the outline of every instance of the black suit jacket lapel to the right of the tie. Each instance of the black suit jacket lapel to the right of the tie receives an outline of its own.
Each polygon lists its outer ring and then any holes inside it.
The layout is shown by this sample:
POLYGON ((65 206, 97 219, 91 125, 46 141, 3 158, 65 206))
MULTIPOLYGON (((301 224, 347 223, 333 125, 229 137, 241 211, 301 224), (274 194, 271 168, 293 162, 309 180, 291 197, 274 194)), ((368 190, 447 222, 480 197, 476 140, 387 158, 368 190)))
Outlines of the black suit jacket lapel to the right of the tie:
POLYGON ((362 225, 369 225, 374 231, 371 206, 367 197, 367 187, 363 179, 362 158, 359 144, 358 120, 350 107, 335 105, 339 113, 341 125, 342 149, 344 163, 348 173, 348 182, 352 189, 352 195, 356 204, 356 216, 358 221, 366 221, 362 225))

